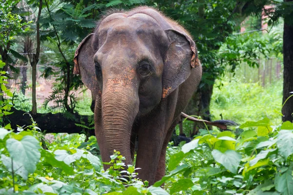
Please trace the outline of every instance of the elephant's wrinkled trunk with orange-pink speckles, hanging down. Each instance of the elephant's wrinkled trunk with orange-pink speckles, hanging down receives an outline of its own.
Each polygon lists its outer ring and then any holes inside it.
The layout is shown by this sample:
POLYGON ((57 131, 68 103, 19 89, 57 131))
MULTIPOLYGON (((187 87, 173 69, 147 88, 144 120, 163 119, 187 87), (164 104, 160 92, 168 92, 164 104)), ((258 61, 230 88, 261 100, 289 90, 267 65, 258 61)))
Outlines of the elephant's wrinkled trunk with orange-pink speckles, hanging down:
POLYGON ((108 84, 102 95, 102 123, 109 155, 119 151, 132 164, 130 154, 131 129, 139 110, 137 90, 121 84, 108 84))

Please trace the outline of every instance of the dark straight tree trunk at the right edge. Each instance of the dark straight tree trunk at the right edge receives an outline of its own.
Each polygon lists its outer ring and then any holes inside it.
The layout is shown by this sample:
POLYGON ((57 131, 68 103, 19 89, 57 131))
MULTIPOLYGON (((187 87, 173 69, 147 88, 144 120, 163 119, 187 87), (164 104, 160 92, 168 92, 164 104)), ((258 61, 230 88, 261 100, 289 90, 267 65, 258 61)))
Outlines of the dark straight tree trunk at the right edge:
MULTIPOLYGON (((293 1, 293 0, 285 0, 293 1)), ((284 60, 284 82, 283 82, 283 104, 289 98, 290 92, 293 92, 293 24, 289 21, 289 16, 284 17, 283 34, 283 60, 284 60)), ((288 99, 282 109, 283 121, 293 121, 293 97, 288 99)))

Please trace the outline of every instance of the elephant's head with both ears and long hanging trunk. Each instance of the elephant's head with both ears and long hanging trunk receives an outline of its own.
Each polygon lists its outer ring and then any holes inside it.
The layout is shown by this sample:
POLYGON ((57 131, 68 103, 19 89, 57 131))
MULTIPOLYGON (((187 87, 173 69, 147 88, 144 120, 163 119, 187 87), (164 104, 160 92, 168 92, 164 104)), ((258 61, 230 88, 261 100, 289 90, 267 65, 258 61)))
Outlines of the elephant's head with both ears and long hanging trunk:
POLYGON ((76 50, 74 73, 97 98, 103 161, 115 149, 131 163, 133 125, 189 77, 197 59, 188 34, 155 10, 111 13, 98 23, 76 50))

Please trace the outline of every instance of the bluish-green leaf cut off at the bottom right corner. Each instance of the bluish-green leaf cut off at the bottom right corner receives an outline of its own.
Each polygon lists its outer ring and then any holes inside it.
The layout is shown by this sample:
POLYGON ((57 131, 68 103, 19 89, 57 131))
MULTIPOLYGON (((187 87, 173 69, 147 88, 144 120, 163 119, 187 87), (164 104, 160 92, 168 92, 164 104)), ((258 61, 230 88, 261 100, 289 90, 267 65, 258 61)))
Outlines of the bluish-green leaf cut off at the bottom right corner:
POLYGON ((277 173, 274 184, 275 189, 282 195, 293 195, 293 164, 284 173, 277 173))

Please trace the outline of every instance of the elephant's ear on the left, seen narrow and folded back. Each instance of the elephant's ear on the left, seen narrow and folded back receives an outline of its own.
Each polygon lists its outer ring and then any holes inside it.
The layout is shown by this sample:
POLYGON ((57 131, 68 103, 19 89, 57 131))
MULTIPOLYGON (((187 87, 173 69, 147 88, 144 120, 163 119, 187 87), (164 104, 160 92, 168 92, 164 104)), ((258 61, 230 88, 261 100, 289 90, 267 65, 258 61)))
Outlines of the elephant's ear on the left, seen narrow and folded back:
POLYGON ((74 69, 73 74, 80 75, 84 85, 92 91, 97 93, 100 91, 98 80, 95 73, 94 49, 92 48, 92 39, 94 34, 88 35, 79 44, 74 55, 74 69))

